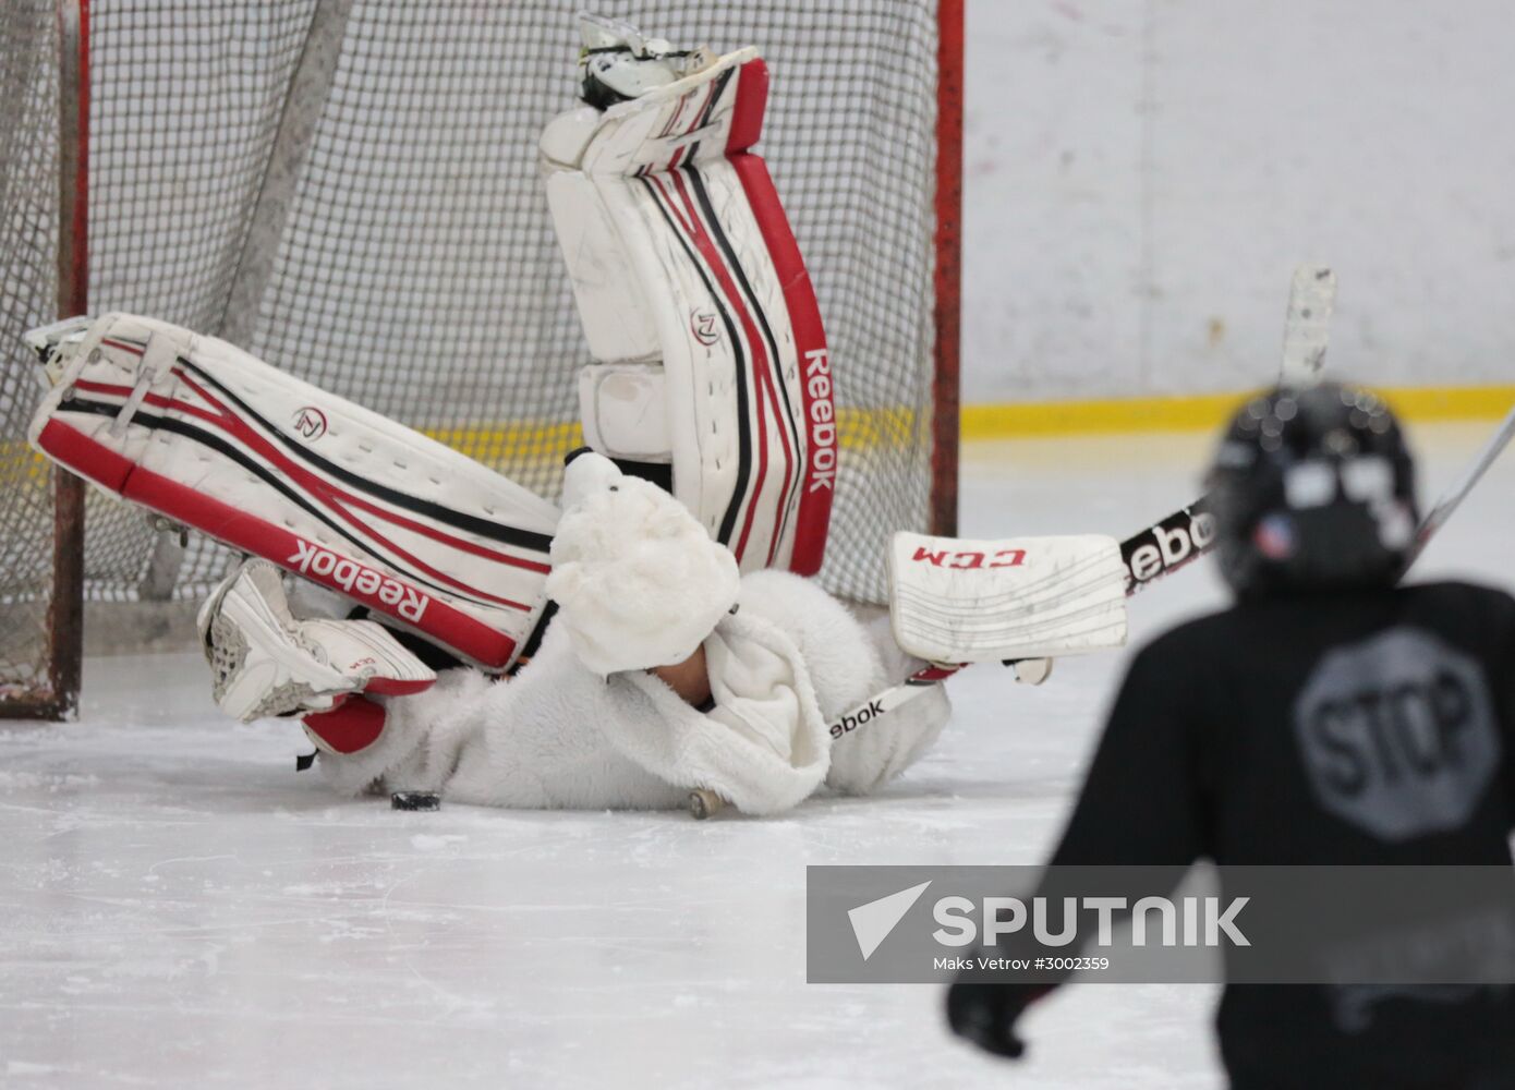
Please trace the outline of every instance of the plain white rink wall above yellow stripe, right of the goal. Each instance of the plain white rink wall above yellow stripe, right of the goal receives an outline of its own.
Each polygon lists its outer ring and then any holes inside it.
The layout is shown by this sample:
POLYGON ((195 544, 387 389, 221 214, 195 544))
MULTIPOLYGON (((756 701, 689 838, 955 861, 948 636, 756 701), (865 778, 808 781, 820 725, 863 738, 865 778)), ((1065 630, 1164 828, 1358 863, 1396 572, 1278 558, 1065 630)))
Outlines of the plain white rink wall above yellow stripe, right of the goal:
POLYGON ((968 0, 964 396, 1515 382, 1507 0, 968 0))

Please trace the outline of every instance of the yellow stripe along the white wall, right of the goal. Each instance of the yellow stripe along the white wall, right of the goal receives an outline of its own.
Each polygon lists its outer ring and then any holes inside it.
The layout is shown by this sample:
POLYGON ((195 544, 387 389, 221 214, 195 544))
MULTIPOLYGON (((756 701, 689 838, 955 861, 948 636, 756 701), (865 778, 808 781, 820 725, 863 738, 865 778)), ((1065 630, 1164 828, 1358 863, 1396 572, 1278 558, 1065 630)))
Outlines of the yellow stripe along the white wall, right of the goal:
MULTIPOLYGON (((1379 390, 1406 420, 1492 420, 1515 405, 1515 387, 1391 387, 1379 390)), ((1088 432, 1186 432, 1220 428, 1247 394, 1120 397, 1088 402, 964 405, 964 440, 1088 432)))

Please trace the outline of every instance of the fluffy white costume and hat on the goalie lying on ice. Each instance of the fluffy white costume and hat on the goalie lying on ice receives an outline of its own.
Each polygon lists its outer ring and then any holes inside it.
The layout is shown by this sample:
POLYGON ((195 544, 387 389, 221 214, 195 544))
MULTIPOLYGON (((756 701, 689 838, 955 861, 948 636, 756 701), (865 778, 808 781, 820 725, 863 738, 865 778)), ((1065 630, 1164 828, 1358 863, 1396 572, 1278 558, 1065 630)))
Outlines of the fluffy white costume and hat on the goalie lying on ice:
MULTIPOLYGON (((582 500, 570 511, 579 518, 564 520, 559 541, 598 576, 614 576, 617 605, 674 585, 694 599, 704 590, 708 600, 727 593, 714 567, 704 578, 691 575, 700 572, 691 547, 720 546, 661 529, 670 520, 692 523, 673 497, 644 482, 617 481, 603 459, 586 461, 574 462, 570 476, 594 478, 597 490, 618 491, 617 502, 597 503, 603 491, 582 500), (629 525, 629 511, 641 512, 638 525, 629 525), (591 514, 598 525, 589 525, 591 514), (651 562, 654 556, 661 562, 651 562)), ((703 638, 715 700, 708 713, 642 669, 601 676, 586 666, 574 632, 591 629, 591 617, 573 614, 592 611, 594 600, 562 602, 568 617, 551 625, 536 656, 508 681, 451 670, 432 690, 386 697, 379 740, 358 753, 323 753, 323 773, 344 793, 377 784, 521 808, 668 808, 703 787, 748 814, 770 814, 823 784, 842 791, 877 787, 920 756, 945 722, 945 697, 926 699, 833 743, 827 722, 903 676, 903 655, 885 625, 864 628, 798 576, 742 576, 735 611, 703 638)), ((638 659, 636 646, 636 635, 624 634, 624 661, 638 659)), ((677 638, 648 653, 667 658, 668 646, 679 646, 677 638)))

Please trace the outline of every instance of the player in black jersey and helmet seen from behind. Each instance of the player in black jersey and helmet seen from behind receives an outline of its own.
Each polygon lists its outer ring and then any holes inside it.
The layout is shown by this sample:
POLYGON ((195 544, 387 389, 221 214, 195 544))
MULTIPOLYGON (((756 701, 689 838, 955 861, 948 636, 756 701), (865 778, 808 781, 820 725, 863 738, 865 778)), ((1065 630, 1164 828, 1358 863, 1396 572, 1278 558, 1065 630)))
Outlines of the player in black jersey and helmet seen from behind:
MULTIPOLYGON (((1515 599, 1398 585, 1413 465, 1376 396, 1274 390, 1227 428, 1209 476, 1236 603, 1130 666, 1053 864, 1509 864, 1515 599), (1435 744, 1406 749, 1395 716, 1435 744)), ((959 979, 954 1032, 1006 1057, 1045 985, 959 979)), ((1324 985, 1230 985, 1236 1090, 1515 1087, 1507 988, 1395 993, 1336 1022, 1324 985)))

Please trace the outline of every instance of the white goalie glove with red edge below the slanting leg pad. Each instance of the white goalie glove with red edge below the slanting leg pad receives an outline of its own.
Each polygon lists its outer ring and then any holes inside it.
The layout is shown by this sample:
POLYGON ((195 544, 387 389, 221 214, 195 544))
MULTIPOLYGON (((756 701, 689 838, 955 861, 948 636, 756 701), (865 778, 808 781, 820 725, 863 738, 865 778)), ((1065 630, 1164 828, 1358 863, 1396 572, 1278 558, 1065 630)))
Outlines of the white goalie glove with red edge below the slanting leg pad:
POLYGON ((436 675, 370 620, 297 620, 283 578, 264 559, 244 562, 200 608, 211 691, 227 716, 327 711, 350 693, 403 696, 436 675))

